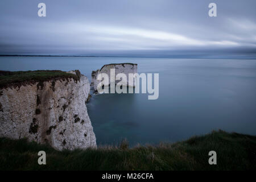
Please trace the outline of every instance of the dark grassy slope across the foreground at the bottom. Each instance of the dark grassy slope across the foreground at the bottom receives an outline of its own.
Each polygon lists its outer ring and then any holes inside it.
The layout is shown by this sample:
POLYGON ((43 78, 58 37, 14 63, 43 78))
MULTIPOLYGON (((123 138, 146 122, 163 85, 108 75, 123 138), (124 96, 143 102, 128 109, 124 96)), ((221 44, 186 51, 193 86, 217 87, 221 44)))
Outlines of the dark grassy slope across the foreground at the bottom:
POLYGON ((213 131, 173 144, 128 148, 56 151, 27 142, 0 138, 0 170, 248 170, 256 169, 256 137, 213 131), (38 164, 38 151, 46 151, 46 165, 38 164), (209 165, 209 151, 217 152, 217 165, 209 165))

